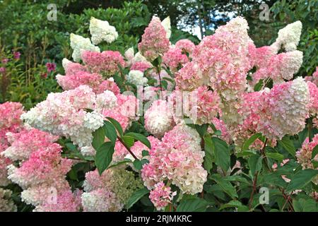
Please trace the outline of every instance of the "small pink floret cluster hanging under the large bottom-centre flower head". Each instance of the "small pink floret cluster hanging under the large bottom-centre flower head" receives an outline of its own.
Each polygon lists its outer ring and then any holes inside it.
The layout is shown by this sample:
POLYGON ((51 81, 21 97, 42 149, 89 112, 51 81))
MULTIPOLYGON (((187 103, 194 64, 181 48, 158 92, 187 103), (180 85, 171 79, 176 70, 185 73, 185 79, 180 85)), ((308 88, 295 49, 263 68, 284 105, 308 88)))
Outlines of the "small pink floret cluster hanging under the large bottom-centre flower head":
POLYGON ((149 198, 157 210, 164 210, 175 195, 177 195, 177 192, 172 192, 170 186, 165 186, 165 183, 159 182, 155 184, 149 198))

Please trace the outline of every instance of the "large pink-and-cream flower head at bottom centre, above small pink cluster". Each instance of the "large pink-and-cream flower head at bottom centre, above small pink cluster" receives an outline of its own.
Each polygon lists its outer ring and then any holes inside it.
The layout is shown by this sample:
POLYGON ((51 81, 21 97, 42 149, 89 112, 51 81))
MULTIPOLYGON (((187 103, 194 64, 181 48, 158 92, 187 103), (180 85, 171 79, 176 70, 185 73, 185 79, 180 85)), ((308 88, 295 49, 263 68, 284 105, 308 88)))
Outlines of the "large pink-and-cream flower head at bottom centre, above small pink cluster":
POLYGON ((148 189, 168 179, 182 193, 196 194, 202 191, 207 172, 202 167, 204 152, 200 148, 201 139, 195 130, 184 127, 177 125, 165 133, 163 142, 150 153, 149 163, 143 165, 141 177, 148 189))

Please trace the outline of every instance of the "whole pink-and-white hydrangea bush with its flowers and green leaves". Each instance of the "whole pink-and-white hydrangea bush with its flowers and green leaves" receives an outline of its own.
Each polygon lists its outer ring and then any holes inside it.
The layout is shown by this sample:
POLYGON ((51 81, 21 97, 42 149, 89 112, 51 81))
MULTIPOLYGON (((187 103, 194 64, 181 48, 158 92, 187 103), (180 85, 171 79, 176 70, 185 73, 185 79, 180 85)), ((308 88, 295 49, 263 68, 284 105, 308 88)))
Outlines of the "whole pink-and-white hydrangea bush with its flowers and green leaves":
MULTIPOLYGON (((0 105, 0 210, 317 211, 317 73, 294 78, 302 23, 256 47, 245 18, 170 42, 153 16, 138 49, 71 34, 63 88, 0 105)), ((318 71, 318 70, 317 70, 318 71)))

